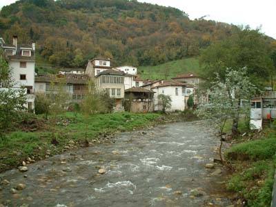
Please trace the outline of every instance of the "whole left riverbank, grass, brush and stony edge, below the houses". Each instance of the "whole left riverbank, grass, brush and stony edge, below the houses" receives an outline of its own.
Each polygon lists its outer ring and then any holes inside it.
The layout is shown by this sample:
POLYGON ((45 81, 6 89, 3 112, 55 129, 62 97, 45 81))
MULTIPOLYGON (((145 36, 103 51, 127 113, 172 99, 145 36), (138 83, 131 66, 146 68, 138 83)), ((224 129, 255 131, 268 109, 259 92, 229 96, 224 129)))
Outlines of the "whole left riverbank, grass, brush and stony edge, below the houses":
POLYGON ((115 142, 115 134, 119 132, 194 118, 190 112, 169 115, 117 112, 89 117, 66 112, 50 119, 28 116, 0 141, 0 172, 68 150, 115 142))

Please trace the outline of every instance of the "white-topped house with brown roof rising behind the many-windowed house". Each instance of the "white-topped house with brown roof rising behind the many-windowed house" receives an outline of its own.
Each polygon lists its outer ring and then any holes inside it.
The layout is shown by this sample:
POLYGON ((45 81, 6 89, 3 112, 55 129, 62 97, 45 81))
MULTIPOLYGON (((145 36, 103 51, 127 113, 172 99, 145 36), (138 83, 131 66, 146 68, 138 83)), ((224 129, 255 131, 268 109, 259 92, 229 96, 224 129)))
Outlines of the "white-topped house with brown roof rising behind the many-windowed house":
POLYGON ((111 68, 111 61, 109 58, 97 57, 88 61, 85 73, 93 79, 100 72, 111 68))

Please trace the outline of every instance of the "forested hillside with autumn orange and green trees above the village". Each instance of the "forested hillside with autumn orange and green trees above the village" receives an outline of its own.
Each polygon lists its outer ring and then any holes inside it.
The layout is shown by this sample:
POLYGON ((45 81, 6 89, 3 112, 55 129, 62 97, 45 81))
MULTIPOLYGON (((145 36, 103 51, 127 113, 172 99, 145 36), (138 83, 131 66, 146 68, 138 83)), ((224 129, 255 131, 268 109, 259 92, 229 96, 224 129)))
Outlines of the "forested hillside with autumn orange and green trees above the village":
POLYGON ((195 57, 233 30, 239 28, 135 0, 21 0, 0 12, 1 37, 35 41, 39 56, 61 67, 83 67, 96 56, 115 66, 154 66, 195 57))

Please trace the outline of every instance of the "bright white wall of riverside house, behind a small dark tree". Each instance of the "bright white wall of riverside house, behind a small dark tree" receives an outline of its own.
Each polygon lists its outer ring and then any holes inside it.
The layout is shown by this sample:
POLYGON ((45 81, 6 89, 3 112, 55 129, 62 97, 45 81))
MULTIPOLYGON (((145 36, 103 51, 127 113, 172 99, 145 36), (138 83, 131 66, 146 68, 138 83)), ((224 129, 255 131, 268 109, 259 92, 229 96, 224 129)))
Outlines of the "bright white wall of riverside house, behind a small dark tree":
POLYGON ((172 110, 184 110, 185 109, 185 96, 182 95, 181 86, 166 86, 153 89, 155 92, 154 103, 155 110, 162 110, 162 107, 158 105, 158 95, 169 95, 172 99, 172 106, 168 111, 172 110), (178 88, 178 95, 175 95, 175 88, 178 88))

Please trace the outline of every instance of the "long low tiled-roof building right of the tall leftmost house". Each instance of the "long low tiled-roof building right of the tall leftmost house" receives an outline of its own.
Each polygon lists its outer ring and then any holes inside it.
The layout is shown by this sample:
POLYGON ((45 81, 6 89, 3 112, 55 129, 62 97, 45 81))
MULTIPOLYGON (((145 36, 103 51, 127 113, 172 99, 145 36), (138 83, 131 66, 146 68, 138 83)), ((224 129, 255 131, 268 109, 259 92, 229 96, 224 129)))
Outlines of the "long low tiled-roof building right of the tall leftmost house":
POLYGON ((86 96, 88 80, 88 75, 79 74, 40 75, 35 77, 35 94, 58 92, 58 85, 64 84, 63 91, 70 101, 81 101, 86 96))

